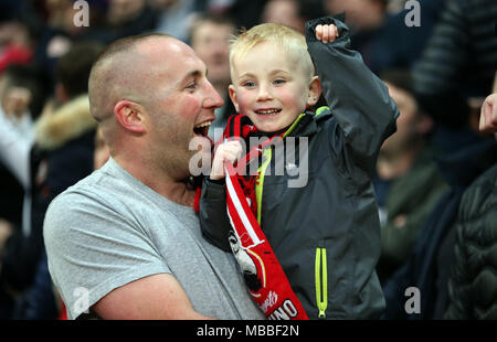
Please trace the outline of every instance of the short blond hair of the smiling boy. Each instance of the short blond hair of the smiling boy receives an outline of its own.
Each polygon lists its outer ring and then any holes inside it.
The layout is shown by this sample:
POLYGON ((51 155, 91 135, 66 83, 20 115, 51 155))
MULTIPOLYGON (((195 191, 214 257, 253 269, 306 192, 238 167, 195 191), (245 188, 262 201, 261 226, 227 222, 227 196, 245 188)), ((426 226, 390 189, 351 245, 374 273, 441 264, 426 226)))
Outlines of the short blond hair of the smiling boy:
MULTIPOLYGON (((273 43, 278 51, 294 57, 302 65, 309 78, 315 75, 314 64, 307 52, 304 34, 299 31, 278 23, 264 23, 253 26, 251 30, 242 30, 240 35, 230 40, 230 72, 234 79, 233 63, 243 58, 253 47, 261 43, 273 43)), ((264 62, 262 62, 264 63, 264 62)))

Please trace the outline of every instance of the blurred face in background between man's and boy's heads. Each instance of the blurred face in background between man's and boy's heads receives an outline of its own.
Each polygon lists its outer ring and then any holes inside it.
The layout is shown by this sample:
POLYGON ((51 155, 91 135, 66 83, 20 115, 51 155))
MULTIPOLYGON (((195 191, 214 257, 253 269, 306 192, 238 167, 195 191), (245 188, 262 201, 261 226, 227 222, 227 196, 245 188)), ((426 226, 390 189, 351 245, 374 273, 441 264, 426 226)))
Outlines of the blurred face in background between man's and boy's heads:
POLYGON ((209 81, 216 85, 230 83, 230 36, 234 25, 203 21, 193 30, 191 46, 209 71, 209 81))

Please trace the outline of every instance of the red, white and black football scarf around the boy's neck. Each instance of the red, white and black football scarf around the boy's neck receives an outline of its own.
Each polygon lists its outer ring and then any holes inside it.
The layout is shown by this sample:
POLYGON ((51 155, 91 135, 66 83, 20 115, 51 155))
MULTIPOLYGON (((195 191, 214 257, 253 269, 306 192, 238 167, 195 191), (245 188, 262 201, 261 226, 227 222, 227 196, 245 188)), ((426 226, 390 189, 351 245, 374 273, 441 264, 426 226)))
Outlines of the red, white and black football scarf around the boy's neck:
MULTIPOLYGON (((246 116, 230 118, 224 138, 246 138, 256 129, 246 116)), ((230 244, 245 276, 250 293, 268 319, 307 320, 308 317, 295 296, 273 248, 256 220, 256 201, 253 182, 246 182, 237 171, 261 156, 263 148, 281 139, 275 136, 254 147, 237 163, 226 163, 226 210, 233 235, 230 244), (243 186, 245 189, 243 189, 243 186), (247 189, 251 188, 251 189, 247 189)))

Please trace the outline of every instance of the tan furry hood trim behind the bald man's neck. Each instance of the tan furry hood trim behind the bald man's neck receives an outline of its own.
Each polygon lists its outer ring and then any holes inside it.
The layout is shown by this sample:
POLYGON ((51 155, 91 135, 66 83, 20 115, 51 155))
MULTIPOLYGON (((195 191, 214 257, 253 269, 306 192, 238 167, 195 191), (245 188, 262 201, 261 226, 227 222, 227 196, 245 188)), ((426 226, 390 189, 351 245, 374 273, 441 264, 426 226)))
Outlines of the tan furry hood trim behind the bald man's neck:
POLYGON ((55 110, 44 113, 35 124, 35 140, 44 150, 56 149, 95 129, 87 95, 78 96, 55 110))

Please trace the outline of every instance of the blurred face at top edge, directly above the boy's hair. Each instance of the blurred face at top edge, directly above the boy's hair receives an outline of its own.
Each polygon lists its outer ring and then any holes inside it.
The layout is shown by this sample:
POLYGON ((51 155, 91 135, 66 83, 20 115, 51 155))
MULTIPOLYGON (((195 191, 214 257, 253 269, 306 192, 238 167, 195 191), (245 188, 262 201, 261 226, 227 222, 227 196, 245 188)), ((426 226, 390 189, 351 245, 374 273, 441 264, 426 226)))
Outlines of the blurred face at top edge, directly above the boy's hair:
POLYGON ((272 0, 264 7, 263 22, 275 22, 304 32, 305 20, 299 15, 296 0, 272 0))

